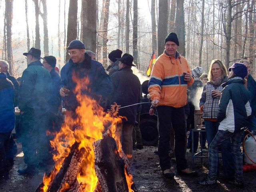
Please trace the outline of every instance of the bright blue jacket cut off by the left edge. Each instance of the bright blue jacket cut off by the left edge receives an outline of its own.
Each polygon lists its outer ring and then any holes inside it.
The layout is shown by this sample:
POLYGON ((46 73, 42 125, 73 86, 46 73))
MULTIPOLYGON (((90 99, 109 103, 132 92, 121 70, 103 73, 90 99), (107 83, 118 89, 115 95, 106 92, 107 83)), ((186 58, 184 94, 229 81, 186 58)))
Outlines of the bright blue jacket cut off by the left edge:
POLYGON ((5 73, 0 73, 0 133, 11 132, 15 125, 14 86, 5 73))

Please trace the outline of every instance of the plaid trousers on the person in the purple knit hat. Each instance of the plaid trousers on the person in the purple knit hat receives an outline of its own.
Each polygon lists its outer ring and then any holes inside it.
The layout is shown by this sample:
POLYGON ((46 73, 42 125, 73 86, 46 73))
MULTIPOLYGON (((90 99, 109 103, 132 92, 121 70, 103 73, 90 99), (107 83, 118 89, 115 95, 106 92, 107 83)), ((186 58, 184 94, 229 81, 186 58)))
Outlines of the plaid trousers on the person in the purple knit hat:
MULTIPOLYGON (((229 132, 219 130, 212 140, 209 147, 209 172, 208 179, 215 180, 218 170, 218 148, 226 142, 227 139, 232 139, 232 154, 235 161, 235 180, 241 182, 243 180, 243 158, 240 150, 243 132, 229 132)), ((233 176, 234 176, 233 175, 233 176)), ((230 175, 231 176, 231 175, 230 175)))

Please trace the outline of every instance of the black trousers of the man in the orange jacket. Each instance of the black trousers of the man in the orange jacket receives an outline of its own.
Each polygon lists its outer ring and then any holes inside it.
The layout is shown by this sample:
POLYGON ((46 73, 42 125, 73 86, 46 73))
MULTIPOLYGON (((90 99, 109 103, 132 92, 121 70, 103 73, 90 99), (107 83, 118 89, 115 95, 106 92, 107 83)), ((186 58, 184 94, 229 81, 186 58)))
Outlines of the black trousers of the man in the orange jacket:
POLYGON ((168 149, 170 146, 170 131, 172 125, 174 130, 174 154, 177 170, 184 170, 187 168, 185 156, 187 137, 184 107, 174 108, 171 106, 158 106, 157 111, 159 122, 158 155, 161 169, 164 171, 171 168, 168 149))

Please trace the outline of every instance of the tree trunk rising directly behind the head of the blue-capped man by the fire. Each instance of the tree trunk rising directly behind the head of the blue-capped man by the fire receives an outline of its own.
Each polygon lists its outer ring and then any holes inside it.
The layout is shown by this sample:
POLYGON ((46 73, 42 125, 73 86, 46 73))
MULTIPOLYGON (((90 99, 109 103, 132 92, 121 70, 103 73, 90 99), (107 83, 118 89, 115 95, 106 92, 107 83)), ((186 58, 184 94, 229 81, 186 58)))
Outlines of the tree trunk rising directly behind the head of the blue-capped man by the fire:
MULTIPOLYGON (((77 37, 77 0, 72 0, 69 2, 68 9, 68 30, 67 30, 67 47, 72 40, 77 37)), ((66 51, 66 62, 69 60, 70 56, 68 51, 66 51)))

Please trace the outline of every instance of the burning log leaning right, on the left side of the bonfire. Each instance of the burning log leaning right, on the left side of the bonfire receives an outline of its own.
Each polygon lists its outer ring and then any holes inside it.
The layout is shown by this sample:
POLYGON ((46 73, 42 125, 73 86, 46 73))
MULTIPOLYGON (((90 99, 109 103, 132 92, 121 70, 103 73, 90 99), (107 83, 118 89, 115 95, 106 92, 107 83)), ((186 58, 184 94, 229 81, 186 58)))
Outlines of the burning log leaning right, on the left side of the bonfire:
MULTIPOLYGON (((78 188, 81 188, 81 186, 79 185, 76 178, 81 170, 83 159, 86 156, 86 149, 81 148, 78 150, 78 146, 78 142, 75 142, 72 145, 68 157, 65 158, 60 171, 55 176, 50 186, 48 186, 47 192, 59 192, 60 190, 65 192, 79 191, 78 188), (64 190, 65 188, 66 190, 64 190)), ((41 184, 37 188, 36 192, 43 191, 43 186, 44 184, 41 184)))

